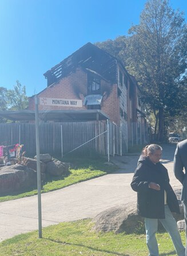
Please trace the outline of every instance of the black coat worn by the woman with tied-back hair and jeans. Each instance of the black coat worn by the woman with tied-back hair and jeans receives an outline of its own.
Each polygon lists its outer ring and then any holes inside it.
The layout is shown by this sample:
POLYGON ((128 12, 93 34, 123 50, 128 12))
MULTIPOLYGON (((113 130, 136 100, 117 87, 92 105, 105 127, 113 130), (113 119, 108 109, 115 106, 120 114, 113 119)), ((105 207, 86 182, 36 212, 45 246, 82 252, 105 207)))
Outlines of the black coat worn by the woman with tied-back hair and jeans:
POLYGON ((167 204, 171 212, 180 214, 176 194, 169 184, 168 170, 160 162, 153 164, 148 157, 140 157, 130 184, 137 193, 138 215, 151 219, 164 219, 164 190, 167 193, 167 204), (149 183, 160 185, 160 191, 149 188, 149 183))

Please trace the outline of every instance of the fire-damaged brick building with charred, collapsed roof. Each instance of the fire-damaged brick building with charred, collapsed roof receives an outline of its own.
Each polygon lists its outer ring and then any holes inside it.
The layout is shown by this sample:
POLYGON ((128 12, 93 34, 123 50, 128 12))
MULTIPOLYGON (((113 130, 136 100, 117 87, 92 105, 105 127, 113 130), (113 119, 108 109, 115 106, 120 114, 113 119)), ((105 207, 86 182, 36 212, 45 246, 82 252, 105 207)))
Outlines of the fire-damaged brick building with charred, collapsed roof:
MULTIPOLYGON (((101 110, 122 127, 126 147, 142 143, 142 138, 147 142, 140 89, 116 57, 89 42, 44 76, 47 87, 37 95, 53 98, 54 104, 40 105, 39 110, 101 110)), ((29 110, 34 110, 34 96, 29 110)))

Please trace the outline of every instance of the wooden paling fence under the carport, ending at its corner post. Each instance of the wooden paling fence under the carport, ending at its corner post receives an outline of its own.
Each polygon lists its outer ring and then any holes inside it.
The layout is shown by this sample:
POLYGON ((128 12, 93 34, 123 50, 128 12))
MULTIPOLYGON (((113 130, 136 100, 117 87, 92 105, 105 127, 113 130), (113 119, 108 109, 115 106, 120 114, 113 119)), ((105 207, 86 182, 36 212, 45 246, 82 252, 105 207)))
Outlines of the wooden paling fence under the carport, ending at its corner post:
MULTIPOLYGON (((42 154, 52 156, 65 155, 78 148, 81 152, 97 152, 107 154, 107 136, 105 122, 71 122, 54 123, 41 122, 39 125, 39 143, 42 154), (104 133, 104 134, 102 134, 104 133), (97 137, 98 134, 102 134, 97 137), (94 137, 97 137, 93 139, 94 137), (86 143, 87 141, 90 141, 86 143)), ((15 143, 23 144, 26 156, 36 154, 35 123, 1 123, 0 145, 9 146, 15 143)))

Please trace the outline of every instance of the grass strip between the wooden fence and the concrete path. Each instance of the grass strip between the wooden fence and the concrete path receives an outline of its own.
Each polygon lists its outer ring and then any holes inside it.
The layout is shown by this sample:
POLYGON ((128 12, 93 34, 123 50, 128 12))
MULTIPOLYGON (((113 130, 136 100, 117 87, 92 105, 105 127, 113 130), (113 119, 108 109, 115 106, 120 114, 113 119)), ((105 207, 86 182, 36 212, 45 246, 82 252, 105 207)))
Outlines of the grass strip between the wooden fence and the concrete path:
MULTIPOLYGON (((63 160, 59 158, 59 160, 73 164, 74 167, 70 169, 70 175, 67 177, 47 177, 47 181, 42 187, 42 193, 64 188, 81 181, 90 180, 114 172, 118 169, 116 165, 106 165, 106 157, 70 157, 63 158, 63 160)), ((0 196, 0 202, 33 195, 37 195, 37 189, 31 191, 19 191, 17 193, 0 196)))

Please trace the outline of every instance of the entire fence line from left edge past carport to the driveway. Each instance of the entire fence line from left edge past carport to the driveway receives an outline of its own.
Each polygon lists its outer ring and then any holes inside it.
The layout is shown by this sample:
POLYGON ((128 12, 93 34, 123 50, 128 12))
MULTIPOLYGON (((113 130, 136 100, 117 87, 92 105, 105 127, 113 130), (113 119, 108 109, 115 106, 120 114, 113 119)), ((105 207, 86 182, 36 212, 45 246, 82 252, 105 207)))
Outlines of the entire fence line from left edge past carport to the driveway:
MULTIPOLYGON (((108 154, 108 140, 105 121, 39 123, 40 152, 51 156, 63 156, 76 149, 76 152, 96 152, 108 154), (63 145, 62 145, 63 142, 63 145)), ((146 124, 140 127, 130 123, 121 127, 109 121, 109 154, 121 155, 128 148, 149 141, 146 124), (129 136, 128 136, 129 132, 129 136), (128 139, 129 138, 129 139, 128 139)), ((9 146, 16 143, 24 145, 26 156, 34 156, 36 152, 35 123, 0 123, 0 145, 9 146)))

